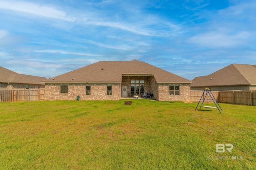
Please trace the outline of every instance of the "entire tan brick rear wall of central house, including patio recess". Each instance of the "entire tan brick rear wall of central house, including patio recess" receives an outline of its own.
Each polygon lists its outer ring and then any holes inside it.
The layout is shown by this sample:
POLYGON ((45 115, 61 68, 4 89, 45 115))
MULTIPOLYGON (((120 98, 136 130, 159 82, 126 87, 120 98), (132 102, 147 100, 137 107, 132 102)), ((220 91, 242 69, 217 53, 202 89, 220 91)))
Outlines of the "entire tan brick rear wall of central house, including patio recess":
POLYGON ((144 80, 144 92, 153 93, 154 98, 160 101, 190 101, 190 84, 179 84, 180 95, 169 95, 168 84, 158 84, 153 76, 123 76, 122 84, 47 84, 45 85, 45 100, 119 100, 121 87, 127 86, 130 92, 131 80, 144 80), (60 86, 67 85, 68 93, 60 93, 60 86), (91 94, 86 95, 86 85, 91 86, 91 94), (112 85, 112 95, 107 95, 107 85, 112 85))

